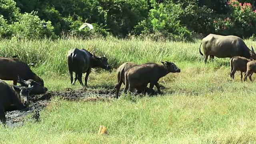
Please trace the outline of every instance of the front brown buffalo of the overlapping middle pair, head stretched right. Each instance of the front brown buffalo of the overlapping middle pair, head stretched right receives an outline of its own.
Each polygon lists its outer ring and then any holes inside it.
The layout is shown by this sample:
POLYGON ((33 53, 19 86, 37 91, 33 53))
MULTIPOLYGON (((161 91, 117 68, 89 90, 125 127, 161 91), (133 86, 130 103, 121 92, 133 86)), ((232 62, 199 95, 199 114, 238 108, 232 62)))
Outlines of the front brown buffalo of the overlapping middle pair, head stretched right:
POLYGON ((161 62, 156 64, 153 62, 147 64, 141 64, 133 66, 124 73, 125 88, 123 92, 133 91, 136 87, 146 88, 150 83, 148 92, 151 94, 153 87, 156 86, 158 93, 160 94, 160 86, 158 80, 170 72, 180 72, 173 62, 161 62))

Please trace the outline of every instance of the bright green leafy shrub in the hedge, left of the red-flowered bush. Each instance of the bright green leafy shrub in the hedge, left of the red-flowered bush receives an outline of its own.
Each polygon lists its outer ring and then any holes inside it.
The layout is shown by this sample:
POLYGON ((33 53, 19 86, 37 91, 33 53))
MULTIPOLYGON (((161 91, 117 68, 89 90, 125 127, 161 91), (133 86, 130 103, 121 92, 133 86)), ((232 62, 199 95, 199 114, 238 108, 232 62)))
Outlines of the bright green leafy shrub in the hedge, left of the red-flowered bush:
POLYGON ((180 23, 183 10, 180 4, 172 2, 155 4, 148 14, 148 19, 136 26, 142 30, 142 34, 158 34, 172 40, 191 39, 191 32, 180 23))

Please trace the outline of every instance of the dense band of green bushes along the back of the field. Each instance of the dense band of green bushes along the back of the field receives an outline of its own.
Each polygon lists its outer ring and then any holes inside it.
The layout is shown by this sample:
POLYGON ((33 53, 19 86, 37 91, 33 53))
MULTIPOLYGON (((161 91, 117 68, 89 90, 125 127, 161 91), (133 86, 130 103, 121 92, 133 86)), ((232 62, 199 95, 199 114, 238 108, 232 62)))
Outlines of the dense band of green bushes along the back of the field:
POLYGON ((1 0, 0 38, 252 36, 254 0, 1 0), (78 30, 83 22, 94 29, 78 30))

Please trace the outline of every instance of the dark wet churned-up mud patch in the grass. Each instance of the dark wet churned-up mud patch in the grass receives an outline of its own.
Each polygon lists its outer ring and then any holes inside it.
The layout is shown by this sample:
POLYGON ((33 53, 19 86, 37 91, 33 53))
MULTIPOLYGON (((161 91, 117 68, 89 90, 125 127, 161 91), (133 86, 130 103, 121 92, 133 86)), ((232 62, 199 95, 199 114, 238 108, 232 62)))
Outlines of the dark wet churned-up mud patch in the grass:
POLYGON ((28 114, 32 114, 34 121, 39 121, 39 111, 44 109, 54 96, 60 96, 65 100, 82 100, 86 101, 99 101, 99 100, 110 100, 110 97, 114 96, 115 90, 96 90, 96 89, 78 89, 73 90, 67 88, 64 91, 47 92, 46 94, 32 95, 30 97, 30 105, 24 110, 14 110, 6 112, 6 124, 10 127, 22 126, 26 120, 28 114))

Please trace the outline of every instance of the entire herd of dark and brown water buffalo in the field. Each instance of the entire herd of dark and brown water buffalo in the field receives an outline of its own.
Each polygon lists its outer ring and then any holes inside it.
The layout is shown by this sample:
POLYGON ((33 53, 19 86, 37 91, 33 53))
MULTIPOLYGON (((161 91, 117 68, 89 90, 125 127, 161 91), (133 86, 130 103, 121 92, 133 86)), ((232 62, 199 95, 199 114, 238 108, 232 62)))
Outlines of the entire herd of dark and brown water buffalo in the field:
MULTIPOLYGON (((256 73, 256 53, 254 49, 251 47, 250 50, 244 40, 237 36, 209 34, 202 39, 199 52, 204 56, 205 64, 208 56, 210 56, 210 59, 214 59, 214 56, 217 58, 230 58, 230 77, 233 79, 236 71, 240 71, 241 81, 243 72, 245 72, 244 81, 248 76, 252 81, 252 74, 256 73), (203 53, 201 52, 201 45, 203 53)), ((25 64, 16 57, 0 57, 0 120, 3 124, 6 122, 4 114, 6 111, 21 110, 28 106, 30 95, 44 94, 48 91, 44 86, 44 80, 32 72, 30 65, 25 64), (13 85, 10 86, 2 80, 12 80, 13 85), (17 86, 17 83, 20 85, 17 86)), ((69 50, 66 60, 72 85, 78 80, 82 86, 87 86, 88 76, 92 68, 103 68, 109 71, 112 69, 105 54, 104 56, 96 56, 94 52, 90 53, 84 48, 69 50), (73 72, 75 73, 74 82, 73 72), (86 73, 86 76, 83 84, 82 74, 84 73, 86 73)), ((114 86, 114 89, 116 89, 115 97, 119 97, 122 84, 124 84, 122 93, 125 94, 133 92, 134 89, 138 93, 145 94, 148 92, 148 94, 152 94, 154 86, 156 86, 157 92, 160 94, 158 80, 170 72, 180 72, 180 68, 173 62, 164 61, 161 63, 135 64, 133 62, 125 62, 120 65, 117 69, 117 83, 114 86)))

